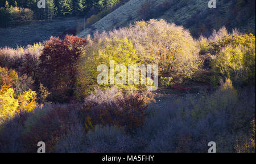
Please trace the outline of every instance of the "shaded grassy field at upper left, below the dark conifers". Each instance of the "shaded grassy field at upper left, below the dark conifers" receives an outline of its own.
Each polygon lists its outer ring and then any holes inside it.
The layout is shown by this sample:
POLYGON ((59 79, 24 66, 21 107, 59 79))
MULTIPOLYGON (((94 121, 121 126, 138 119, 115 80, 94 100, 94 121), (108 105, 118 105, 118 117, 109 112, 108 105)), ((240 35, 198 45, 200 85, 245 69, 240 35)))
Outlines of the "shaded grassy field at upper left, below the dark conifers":
POLYGON ((59 36, 67 29, 76 27, 83 19, 65 18, 53 21, 33 21, 18 27, 0 28, 0 47, 27 46, 35 42, 49 40, 51 36, 59 36))

